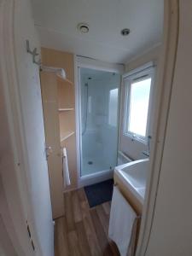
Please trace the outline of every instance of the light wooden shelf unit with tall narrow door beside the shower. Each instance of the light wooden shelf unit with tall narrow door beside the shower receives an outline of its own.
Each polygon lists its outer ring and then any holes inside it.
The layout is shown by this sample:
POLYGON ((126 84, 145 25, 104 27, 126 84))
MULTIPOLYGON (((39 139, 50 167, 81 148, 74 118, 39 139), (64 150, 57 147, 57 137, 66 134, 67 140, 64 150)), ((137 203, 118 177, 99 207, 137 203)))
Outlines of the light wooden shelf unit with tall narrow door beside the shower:
MULTIPOLYGON (((52 146, 49 155, 49 183, 54 218, 64 212, 63 191, 76 189, 78 182, 75 125, 74 56, 55 49, 42 48, 44 66, 61 67, 67 74, 63 79, 55 73, 42 74, 44 89, 44 115, 47 116, 45 136, 47 146, 52 146), (49 100, 49 102, 48 102, 49 100), (63 186, 61 148, 67 148, 67 162, 71 185, 63 186), (56 148, 56 150, 55 150, 56 148)), ((46 122, 45 122, 46 123, 46 122)))

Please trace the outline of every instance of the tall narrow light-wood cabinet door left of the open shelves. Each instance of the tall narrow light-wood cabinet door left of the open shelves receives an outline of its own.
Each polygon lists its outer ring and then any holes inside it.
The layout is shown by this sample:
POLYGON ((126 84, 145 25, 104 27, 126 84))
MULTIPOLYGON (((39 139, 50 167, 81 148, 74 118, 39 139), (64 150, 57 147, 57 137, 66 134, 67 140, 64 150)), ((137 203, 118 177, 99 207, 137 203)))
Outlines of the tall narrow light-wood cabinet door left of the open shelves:
POLYGON ((52 212, 53 218, 58 218, 64 214, 64 205, 57 82, 54 73, 41 73, 41 89, 52 212))

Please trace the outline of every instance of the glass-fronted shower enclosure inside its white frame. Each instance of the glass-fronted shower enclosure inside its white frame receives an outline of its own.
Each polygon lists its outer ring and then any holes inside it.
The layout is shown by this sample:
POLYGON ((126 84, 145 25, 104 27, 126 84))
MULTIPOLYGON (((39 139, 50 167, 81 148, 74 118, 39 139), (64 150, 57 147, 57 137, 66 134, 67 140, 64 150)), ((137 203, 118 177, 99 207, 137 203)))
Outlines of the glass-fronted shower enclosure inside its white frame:
POLYGON ((81 177, 117 165, 119 73, 79 68, 81 177))

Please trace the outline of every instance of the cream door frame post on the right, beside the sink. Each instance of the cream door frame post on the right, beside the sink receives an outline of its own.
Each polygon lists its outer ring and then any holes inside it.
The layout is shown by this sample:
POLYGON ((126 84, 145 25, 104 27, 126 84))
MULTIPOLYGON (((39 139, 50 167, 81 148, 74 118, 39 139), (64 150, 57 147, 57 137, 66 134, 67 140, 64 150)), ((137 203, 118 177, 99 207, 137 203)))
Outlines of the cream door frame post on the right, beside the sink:
POLYGON ((148 241, 154 222, 156 196, 160 181, 160 168, 166 140, 166 126, 172 95, 172 81, 177 58, 177 39, 179 24, 179 0, 164 1, 164 38, 160 55, 160 71, 156 92, 154 113, 154 139, 151 143, 151 155, 143 205, 143 217, 137 244, 136 256, 147 252, 148 241))

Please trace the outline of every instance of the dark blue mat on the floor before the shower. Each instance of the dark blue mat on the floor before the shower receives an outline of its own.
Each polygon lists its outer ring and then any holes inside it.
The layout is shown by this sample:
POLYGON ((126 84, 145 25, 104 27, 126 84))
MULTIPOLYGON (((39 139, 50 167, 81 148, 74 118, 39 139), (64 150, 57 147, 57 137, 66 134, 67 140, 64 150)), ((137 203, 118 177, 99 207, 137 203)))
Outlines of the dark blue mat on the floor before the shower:
POLYGON ((91 207, 101 205, 106 201, 112 200, 113 179, 108 179, 102 183, 84 187, 85 194, 91 207))

